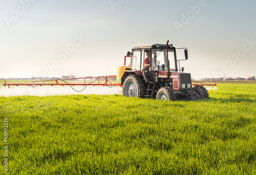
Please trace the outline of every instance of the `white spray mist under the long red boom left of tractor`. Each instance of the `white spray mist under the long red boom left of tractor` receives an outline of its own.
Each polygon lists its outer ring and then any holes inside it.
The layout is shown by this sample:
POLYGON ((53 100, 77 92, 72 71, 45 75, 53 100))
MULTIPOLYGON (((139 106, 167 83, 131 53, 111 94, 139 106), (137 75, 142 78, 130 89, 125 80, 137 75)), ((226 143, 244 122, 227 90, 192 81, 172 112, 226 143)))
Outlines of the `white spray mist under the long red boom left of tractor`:
MULTIPOLYGON (((84 89, 83 86, 73 86, 77 91, 84 89)), ((8 88, 0 88, 0 96, 9 97, 9 96, 53 96, 53 95, 113 95, 121 94, 122 88, 120 86, 113 86, 109 88, 107 86, 87 86, 87 88, 82 92, 74 91, 70 86, 36 86, 32 88, 31 86, 18 86, 8 88)))

